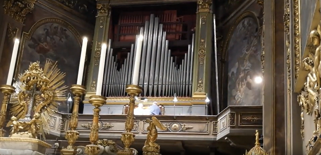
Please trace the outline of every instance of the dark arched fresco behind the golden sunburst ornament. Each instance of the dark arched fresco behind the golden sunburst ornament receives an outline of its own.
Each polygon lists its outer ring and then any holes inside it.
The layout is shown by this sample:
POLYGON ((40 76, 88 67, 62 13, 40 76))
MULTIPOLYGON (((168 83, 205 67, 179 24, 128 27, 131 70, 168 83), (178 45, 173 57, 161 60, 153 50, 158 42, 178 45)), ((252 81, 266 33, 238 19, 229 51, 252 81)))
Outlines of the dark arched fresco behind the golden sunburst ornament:
MULTIPOLYGON (((17 67, 19 74, 32 62, 39 61, 43 67, 49 60, 53 64, 57 62, 58 68, 66 73, 65 85, 70 87, 76 83, 81 54, 79 34, 65 21, 56 18, 38 21, 28 34, 24 34, 21 51, 17 67)), ((62 102, 58 110, 67 113, 67 102, 62 102)))

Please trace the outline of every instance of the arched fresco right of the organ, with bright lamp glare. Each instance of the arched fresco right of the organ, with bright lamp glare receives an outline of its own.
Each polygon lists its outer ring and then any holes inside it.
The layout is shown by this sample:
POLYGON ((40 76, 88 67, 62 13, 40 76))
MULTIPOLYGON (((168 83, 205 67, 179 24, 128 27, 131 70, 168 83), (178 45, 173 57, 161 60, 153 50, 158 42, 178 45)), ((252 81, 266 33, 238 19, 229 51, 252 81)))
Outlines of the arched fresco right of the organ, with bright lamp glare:
POLYGON ((261 35, 257 19, 246 16, 231 29, 228 105, 262 105, 261 35))

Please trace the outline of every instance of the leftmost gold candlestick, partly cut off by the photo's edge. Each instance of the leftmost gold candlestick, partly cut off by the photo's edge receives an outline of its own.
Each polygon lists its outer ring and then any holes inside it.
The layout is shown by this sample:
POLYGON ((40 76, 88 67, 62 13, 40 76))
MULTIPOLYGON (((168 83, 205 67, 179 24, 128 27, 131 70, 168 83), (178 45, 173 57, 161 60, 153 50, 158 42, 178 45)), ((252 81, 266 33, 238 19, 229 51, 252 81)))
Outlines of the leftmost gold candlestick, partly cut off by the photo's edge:
POLYGON ((10 85, 0 85, 0 91, 4 94, 0 110, 0 137, 3 137, 5 134, 5 130, 3 129, 5 122, 5 114, 7 113, 9 97, 11 94, 15 92, 15 89, 16 88, 10 85))

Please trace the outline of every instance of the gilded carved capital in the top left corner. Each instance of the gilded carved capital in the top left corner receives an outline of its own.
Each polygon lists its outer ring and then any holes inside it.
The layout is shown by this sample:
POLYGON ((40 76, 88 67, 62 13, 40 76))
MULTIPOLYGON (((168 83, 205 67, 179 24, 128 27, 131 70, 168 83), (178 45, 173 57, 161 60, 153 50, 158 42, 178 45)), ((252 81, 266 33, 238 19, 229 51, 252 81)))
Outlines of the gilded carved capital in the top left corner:
POLYGON ((37 0, 5 0, 4 13, 23 23, 26 15, 33 10, 36 2, 37 0))

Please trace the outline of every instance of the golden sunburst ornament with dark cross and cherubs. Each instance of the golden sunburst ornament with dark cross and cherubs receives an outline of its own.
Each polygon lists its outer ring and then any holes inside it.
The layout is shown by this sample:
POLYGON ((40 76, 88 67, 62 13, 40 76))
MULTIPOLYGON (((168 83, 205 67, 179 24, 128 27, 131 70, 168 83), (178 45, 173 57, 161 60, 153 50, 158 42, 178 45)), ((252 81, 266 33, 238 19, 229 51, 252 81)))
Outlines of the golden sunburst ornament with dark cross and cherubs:
POLYGON ((11 135, 25 133, 37 138, 39 132, 43 136, 49 133, 50 116, 58 111, 59 102, 67 99, 64 77, 65 73, 51 61, 46 61, 43 69, 38 61, 31 63, 29 69, 19 75, 14 83, 16 93, 11 96, 10 113, 14 117, 7 125, 16 127, 11 135))

